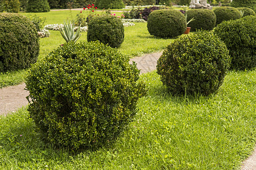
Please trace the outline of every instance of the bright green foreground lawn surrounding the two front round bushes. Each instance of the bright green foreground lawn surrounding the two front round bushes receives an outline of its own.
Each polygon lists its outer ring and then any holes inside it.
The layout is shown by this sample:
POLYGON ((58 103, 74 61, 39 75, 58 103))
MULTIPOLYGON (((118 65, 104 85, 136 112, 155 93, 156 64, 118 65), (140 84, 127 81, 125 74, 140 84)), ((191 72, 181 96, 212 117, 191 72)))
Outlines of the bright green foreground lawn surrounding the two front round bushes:
POLYGON ((45 144, 26 108, 0 117, 0 169, 239 169, 256 139, 256 70, 229 71, 217 94, 173 96, 156 71, 112 147, 73 153, 45 144))

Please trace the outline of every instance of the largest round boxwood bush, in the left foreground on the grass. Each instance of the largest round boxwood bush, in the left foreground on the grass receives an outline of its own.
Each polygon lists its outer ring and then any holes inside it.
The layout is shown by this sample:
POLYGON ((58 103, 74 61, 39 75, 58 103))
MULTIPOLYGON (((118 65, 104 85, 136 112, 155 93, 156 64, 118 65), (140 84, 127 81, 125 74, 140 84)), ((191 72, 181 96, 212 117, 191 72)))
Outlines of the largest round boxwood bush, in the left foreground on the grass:
POLYGON ((97 148, 113 141, 135 115, 139 70, 100 42, 68 42, 28 71, 28 111, 39 133, 57 146, 97 148))

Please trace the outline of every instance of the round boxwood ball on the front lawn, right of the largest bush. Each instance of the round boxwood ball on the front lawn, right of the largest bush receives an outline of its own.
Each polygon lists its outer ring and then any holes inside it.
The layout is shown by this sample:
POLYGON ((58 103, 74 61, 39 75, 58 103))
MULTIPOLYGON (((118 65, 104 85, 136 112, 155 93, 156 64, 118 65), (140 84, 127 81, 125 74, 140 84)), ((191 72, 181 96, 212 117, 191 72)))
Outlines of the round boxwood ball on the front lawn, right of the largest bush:
POLYGON ((209 95, 221 86, 230 65, 228 49, 212 32, 176 39, 157 63, 157 73, 173 94, 209 95))

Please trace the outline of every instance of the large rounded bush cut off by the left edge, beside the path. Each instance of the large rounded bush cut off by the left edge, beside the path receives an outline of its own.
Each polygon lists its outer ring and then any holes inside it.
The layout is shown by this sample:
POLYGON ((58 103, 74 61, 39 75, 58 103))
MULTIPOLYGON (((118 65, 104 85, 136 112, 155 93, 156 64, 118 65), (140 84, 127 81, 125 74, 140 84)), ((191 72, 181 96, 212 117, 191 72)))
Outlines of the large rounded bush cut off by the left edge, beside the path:
POLYGON ((0 73, 25 69, 39 55, 35 25, 26 16, 0 13, 0 73))

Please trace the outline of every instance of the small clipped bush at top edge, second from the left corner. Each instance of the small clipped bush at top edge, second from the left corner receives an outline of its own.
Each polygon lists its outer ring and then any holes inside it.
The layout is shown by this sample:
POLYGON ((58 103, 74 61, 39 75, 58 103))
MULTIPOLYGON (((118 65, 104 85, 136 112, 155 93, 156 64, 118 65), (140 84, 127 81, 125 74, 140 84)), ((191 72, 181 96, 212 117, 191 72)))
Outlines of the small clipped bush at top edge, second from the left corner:
POLYGON ((47 0, 28 0, 27 12, 49 12, 49 3, 47 0))

